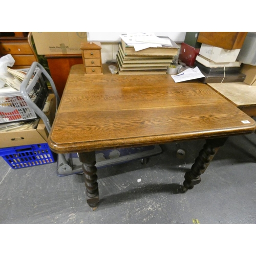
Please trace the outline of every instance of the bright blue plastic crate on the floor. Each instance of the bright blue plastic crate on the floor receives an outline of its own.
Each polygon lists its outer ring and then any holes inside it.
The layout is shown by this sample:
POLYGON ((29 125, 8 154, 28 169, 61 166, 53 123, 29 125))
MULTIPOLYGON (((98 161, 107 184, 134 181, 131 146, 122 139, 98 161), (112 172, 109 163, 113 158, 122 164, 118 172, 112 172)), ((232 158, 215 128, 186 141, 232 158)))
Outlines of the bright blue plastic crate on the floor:
POLYGON ((0 156, 13 169, 54 163, 57 159, 47 143, 1 148, 0 156))

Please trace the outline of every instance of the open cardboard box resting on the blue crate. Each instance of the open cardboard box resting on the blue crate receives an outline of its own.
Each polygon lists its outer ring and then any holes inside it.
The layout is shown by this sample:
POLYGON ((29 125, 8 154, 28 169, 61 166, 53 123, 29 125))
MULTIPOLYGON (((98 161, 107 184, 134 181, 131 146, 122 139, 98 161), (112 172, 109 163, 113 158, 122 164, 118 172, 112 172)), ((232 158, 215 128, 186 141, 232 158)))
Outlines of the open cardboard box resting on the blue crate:
MULTIPOLYGON (((56 99, 54 94, 49 94, 47 101, 50 102, 49 111, 45 114, 52 123, 56 111, 56 99)), ((36 129, 0 133, 0 148, 47 143, 48 136, 49 133, 46 126, 42 119, 40 119, 36 129)))

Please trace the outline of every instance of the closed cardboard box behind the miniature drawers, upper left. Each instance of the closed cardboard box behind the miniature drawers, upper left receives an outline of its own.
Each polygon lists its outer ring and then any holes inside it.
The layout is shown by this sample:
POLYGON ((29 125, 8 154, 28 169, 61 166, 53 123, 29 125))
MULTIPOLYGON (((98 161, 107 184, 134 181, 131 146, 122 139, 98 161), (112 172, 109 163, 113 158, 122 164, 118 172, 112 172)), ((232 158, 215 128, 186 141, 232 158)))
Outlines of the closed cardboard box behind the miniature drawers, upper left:
POLYGON ((37 54, 81 54, 81 42, 87 42, 87 32, 32 32, 37 54))

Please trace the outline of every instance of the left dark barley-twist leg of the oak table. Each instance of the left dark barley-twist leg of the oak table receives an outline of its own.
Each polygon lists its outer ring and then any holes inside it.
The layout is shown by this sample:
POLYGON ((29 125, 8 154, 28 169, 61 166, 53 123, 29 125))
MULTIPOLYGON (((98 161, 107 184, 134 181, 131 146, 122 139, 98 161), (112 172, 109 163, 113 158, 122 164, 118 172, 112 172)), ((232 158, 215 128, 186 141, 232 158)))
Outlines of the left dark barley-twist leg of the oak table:
POLYGON ((87 203, 95 210, 99 203, 95 152, 78 153, 78 156, 80 162, 82 162, 82 170, 87 190, 87 203))

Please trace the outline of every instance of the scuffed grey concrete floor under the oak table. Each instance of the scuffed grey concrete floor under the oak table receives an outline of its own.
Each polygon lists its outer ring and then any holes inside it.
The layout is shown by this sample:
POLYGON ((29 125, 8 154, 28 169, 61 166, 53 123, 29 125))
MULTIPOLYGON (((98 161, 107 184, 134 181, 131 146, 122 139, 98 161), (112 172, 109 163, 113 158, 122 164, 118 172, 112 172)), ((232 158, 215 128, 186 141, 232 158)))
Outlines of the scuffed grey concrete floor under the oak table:
POLYGON ((184 174, 203 144, 164 144, 146 165, 135 160, 99 169, 95 211, 82 175, 58 177, 56 163, 12 169, 1 157, 0 223, 256 223, 256 135, 230 137, 202 182, 182 194, 184 174))

